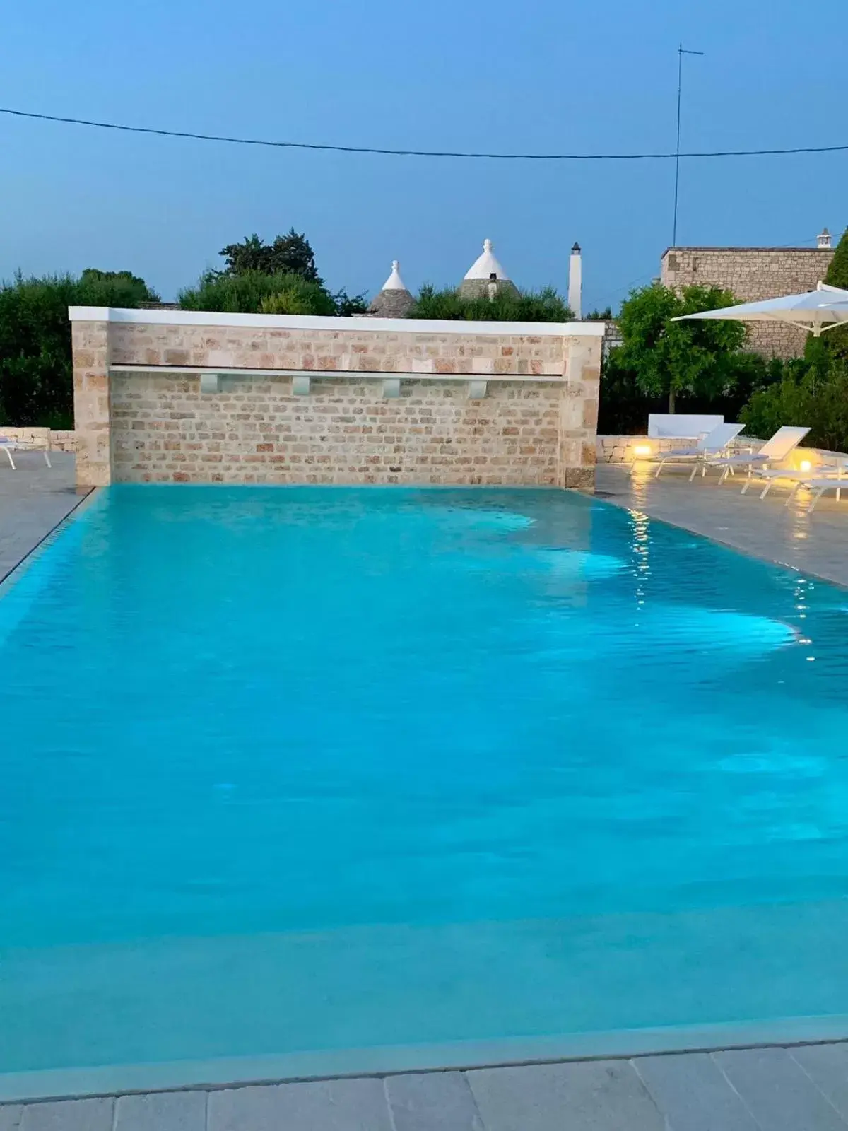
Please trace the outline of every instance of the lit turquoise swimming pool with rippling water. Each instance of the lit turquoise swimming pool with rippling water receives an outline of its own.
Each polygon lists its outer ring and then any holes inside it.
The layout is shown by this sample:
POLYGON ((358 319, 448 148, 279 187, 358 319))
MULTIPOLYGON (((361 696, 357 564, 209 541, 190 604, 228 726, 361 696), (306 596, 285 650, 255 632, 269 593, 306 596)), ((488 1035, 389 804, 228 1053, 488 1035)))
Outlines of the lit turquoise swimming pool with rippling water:
POLYGON ((0 1096, 848 1035, 847 630, 555 491, 99 492, 0 596, 0 1096))

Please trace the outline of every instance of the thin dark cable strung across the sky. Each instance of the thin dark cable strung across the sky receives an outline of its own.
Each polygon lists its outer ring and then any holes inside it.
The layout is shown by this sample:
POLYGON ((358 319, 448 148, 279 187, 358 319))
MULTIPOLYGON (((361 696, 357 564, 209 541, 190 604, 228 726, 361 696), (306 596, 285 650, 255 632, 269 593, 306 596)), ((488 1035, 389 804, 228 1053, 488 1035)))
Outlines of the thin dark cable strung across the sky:
POLYGON ((150 126, 124 126, 118 122, 95 122, 87 118, 63 118, 59 114, 36 114, 28 110, 0 106, 0 114, 34 118, 43 122, 68 126, 92 126, 124 133, 153 133, 166 138, 191 138, 196 141, 224 141, 228 145, 266 146, 274 149, 320 149, 330 153, 366 153, 387 157, 464 157, 490 161, 668 161, 677 157, 769 157, 802 153, 845 153, 848 145, 794 146, 786 149, 713 149, 692 153, 466 153, 451 149, 383 149, 377 146, 319 145, 311 141, 269 141, 263 138, 236 138, 222 133, 194 133, 189 130, 163 130, 150 126))

